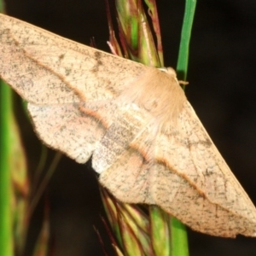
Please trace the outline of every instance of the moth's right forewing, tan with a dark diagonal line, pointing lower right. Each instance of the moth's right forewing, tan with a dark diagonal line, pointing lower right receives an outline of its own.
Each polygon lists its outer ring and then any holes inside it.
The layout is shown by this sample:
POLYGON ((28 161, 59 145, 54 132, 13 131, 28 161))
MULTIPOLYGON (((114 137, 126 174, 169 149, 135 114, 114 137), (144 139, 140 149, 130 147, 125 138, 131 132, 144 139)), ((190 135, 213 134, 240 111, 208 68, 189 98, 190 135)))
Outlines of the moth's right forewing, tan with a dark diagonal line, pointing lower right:
POLYGON ((194 230, 255 236, 255 208, 189 102, 171 131, 160 133, 155 143, 158 166, 150 186, 155 203, 194 230))

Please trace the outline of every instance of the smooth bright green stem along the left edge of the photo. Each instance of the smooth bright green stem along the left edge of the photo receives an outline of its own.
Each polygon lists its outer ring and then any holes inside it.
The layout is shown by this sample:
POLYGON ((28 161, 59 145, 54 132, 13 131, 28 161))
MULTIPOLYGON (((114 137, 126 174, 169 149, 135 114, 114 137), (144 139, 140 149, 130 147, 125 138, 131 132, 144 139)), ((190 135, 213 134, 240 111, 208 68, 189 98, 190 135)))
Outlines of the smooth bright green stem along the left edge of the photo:
POLYGON ((13 255, 11 211, 10 126, 12 122, 12 92, 0 81, 0 250, 1 255, 13 255))

